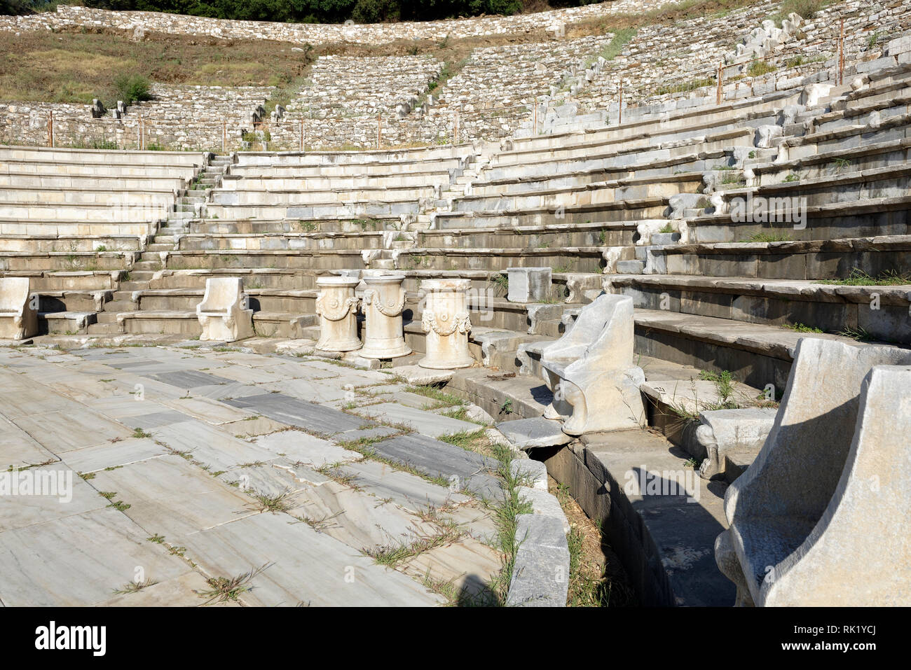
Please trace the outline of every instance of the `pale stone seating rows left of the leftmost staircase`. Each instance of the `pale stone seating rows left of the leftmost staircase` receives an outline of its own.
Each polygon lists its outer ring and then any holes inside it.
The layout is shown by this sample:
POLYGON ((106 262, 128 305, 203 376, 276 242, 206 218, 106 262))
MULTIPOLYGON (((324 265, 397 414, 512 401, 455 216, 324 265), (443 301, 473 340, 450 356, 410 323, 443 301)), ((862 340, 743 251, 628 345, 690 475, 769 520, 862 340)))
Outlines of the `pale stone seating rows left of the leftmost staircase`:
POLYGON ((40 295, 44 332, 92 324, 139 271, 159 221, 179 216, 179 193, 204 154, 0 147, 0 271, 40 295))

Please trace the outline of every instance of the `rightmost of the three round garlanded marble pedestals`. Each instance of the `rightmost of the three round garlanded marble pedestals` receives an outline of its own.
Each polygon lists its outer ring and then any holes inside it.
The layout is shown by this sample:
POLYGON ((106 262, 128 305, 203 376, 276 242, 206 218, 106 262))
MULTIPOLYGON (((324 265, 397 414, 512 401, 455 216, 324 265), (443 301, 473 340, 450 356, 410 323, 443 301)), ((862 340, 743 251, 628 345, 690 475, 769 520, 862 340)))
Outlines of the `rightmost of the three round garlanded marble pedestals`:
POLYGON ((425 357, 418 361, 422 368, 446 370, 467 368, 475 360, 468 352, 468 289, 470 279, 426 279, 421 289, 426 292, 421 328, 427 333, 425 357))

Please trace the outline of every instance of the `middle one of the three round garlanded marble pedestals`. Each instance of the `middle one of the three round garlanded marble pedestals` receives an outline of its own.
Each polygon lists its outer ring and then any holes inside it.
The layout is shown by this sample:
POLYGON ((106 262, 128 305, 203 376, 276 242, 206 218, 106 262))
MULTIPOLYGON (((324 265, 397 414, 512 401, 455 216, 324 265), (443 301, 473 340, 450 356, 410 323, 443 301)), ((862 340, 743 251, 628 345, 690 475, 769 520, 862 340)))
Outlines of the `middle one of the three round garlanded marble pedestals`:
POLYGON ((363 358, 394 359, 411 353, 402 330, 403 281, 404 275, 363 278, 363 358))

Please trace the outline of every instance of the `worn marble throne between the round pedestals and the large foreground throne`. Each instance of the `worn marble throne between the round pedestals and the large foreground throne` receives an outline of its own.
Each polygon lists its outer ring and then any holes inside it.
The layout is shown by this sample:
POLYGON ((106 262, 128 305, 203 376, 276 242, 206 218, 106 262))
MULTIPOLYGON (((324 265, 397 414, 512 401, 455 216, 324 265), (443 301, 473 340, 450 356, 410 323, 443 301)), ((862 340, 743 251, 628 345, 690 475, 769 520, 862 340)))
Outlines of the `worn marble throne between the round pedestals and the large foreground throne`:
POLYGON ((604 293, 541 352, 542 377, 554 394, 545 418, 562 419, 568 435, 640 427, 645 375, 632 357, 632 299, 604 293))

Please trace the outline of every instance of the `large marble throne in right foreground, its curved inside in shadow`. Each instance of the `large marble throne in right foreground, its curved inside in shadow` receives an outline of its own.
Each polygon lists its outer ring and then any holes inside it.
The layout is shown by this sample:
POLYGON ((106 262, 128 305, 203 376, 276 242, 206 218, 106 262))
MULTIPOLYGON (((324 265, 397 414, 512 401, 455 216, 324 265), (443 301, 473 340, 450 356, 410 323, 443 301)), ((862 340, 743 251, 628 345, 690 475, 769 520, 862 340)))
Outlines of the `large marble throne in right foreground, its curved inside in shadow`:
POLYGON ((911 351, 802 338, 715 560, 741 605, 911 604, 911 351))

